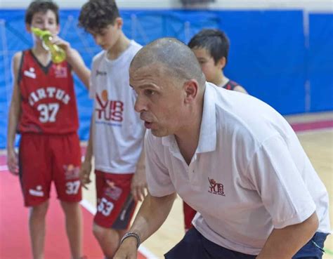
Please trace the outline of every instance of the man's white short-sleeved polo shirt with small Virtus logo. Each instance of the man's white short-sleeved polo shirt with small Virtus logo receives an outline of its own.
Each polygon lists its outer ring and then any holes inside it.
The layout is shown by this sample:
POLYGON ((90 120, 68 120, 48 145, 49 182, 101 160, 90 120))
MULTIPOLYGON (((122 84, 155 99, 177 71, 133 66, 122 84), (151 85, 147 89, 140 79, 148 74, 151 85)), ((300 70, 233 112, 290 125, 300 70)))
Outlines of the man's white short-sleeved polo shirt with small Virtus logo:
POLYGON ((174 135, 145 138, 148 189, 177 192, 207 239, 256 255, 273 228, 306 220, 329 232, 328 195, 287 121, 249 95, 206 84, 200 140, 190 164, 174 135))

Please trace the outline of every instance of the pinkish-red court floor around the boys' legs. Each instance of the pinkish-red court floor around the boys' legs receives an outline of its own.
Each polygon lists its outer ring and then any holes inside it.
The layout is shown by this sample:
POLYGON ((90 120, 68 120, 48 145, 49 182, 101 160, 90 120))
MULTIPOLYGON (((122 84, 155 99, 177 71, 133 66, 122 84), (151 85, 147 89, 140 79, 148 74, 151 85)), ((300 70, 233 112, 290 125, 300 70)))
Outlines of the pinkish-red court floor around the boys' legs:
MULTIPOLYGON (((5 165, 0 156, 0 165, 5 165)), ((46 259, 70 259, 70 248, 65 234, 65 221, 59 202, 52 192, 46 219, 46 259)), ((103 254, 91 232, 93 215, 82 208, 84 214, 84 253, 89 259, 103 259, 103 254)), ((18 177, 0 171, 0 258, 31 259, 28 231, 28 209, 23 206, 18 177)), ((138 258, 145 258, 139 254, 138 258)))

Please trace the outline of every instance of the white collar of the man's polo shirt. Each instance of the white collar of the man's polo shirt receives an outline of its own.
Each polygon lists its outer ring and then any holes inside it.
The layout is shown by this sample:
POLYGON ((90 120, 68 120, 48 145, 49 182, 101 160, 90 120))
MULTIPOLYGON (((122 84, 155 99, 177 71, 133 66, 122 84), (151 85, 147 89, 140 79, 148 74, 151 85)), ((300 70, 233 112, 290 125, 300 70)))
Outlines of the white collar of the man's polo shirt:
MULTIPOLYGON (((169 146, 173 153, 179 152, 174 135, 162 137, 162 145, 169 146)), ((206 82, 204 91, 204 107, 200 126, 199 144, 196 153, 214 151, 216 148, 216 112, 214 85, 206 82)))

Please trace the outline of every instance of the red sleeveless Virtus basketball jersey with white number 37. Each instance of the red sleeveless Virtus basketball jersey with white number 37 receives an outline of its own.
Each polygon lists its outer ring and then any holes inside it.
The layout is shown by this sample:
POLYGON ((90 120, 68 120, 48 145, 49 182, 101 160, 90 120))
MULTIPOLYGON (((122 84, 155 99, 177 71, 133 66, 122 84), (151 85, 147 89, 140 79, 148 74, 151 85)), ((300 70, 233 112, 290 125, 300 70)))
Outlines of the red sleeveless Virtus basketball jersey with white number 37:
POLYGON ((77 131, 77 102, 70 65, 41 65, 23 51, 18 74, 21 93, 20 133, 65 134, 77 131))

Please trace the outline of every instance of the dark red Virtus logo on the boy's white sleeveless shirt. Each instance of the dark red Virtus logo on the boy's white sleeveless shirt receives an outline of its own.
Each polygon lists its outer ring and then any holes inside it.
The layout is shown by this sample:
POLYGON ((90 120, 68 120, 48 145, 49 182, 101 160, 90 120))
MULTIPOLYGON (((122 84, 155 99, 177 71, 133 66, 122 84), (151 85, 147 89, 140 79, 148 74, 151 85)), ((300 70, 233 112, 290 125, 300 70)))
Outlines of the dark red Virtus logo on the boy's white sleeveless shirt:
POLYGON ((124 102, 120 100, 109 100, 107 91, 103 90, 100 95, 96 93, 96 100, 99 107, 96 107, 96 119, 105 121, 123 121, 124 102))

